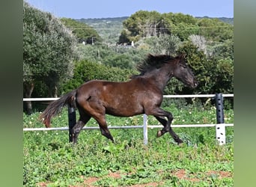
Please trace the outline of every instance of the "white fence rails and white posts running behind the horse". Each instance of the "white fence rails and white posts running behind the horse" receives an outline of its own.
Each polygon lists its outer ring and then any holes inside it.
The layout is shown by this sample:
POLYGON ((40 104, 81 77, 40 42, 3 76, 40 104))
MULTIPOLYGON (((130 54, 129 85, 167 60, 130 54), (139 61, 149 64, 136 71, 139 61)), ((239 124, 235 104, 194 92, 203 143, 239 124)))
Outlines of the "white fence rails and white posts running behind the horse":
MULTIPOLYGON (((200 95, 164 95, 164 98, 195 98, 195 97, 215 97, 215 94, 200 94, 200 95)), ((234 97, 234 94, 222 94, 223 97, 234 97)), ((59 98, 23 98, 23 101, 52 101, 59 98)), ((219 144, 225 144, 225 127, 234 126, 234 123, 219 123, 219 124, 186 124, 186 125, 171 125, 171 127, 216 127, 216 140, 219 144)), ((162 125, 148 125, 147 115, 143 114, 143 124, 141 126, 109 126, 109 129, 138 129, 143 128, 144 144, 147 144, 147 129, 162 128, 162 125)), ((99 126, 85 126, 83 129, 100 129, 99 126)), ((49 130, 69 130, 69 127, 55 128, 24 128, 23 132, 27 131, 49 131, 49 130)))

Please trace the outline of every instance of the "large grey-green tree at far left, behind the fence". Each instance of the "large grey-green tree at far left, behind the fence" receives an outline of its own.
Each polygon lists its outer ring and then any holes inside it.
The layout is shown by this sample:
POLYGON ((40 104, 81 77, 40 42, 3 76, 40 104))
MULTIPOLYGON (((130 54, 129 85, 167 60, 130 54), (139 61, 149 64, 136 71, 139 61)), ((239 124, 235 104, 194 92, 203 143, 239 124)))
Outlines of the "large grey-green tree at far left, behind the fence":
MULTIPOLYGON (((52 14, 23 4, 23 90, 30 98, 36 82, 43 82, 49 96, 73 73, 76 37, 52 14)), ((31 102, 27 111, 31 113, 31 102)))

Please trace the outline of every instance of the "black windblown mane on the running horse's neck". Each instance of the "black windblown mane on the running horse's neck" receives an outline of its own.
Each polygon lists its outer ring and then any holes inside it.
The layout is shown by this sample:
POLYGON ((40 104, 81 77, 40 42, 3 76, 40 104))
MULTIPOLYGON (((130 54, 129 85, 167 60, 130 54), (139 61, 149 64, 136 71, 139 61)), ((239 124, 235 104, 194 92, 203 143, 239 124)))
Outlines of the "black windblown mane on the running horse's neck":
POLYGON ((133 75, 130 78, 134 79, 138 76, 144 76, 145 73, 159 69, 164 64, 168 63, 169 61, 173 61, 174 57, 169 55, 147 55, 147 58, 142 61, 140 64, 137 65, 136 69, 140 72, 139 75, 133 75))

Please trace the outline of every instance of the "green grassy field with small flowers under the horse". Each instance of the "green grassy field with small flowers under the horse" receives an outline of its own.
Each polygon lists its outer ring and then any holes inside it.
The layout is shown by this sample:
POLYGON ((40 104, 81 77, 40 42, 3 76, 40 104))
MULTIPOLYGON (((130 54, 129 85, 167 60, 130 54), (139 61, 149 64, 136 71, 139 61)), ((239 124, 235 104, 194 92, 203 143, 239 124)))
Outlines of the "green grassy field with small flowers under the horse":
MULTIPOLYGON (((174 114, 174 124, 216 123, 215 108, 168 110, 174 114)), ((38 115, 24 114, 24 127, 43 127, 38 115)), ((141 116, 107 118, 112 126, 142 123, 141 116)), ((233 123, 233 118, 232 110, 225 111, 226 123, 233 123)), ((156 120, 149 117, 149 124, 156 120)), ((67 110, 53 118, 52 126, 67 126, 67 110)), ((97 124, 91 120, 88 126, 97 124)), ((226 128, 223 146, 216 144, 214 127, 175 128, 185 141, 182 146, 168 134, 156 138, 157 130, 148 129, 147 146, 142 129, 111 129, 115 144, 100 130, 84 130, 76 146, 68 143, 67 131, 24 132, 23 185, 85 186, 96 177, 90 185, 234 186, 234 127, 226 128)))

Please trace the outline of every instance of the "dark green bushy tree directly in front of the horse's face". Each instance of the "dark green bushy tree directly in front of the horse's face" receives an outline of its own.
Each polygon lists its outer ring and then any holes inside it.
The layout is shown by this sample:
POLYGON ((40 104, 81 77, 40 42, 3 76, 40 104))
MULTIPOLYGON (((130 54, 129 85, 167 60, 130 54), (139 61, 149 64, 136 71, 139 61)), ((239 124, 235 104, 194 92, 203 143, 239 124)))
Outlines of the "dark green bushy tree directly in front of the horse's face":
MULTIPOLYGON (((198 49, 191 41, 183 44, 178 50, 186 53, 186 61, 192 67, 199 85, 193 92, 196 93, 233 93, 234 91, 234 66, 230 58, 219 59, 209 57, 198 49)), ((183 88, 180 93, 189 93, 183 88)), ((192 91, 190 91, 192 92, 192 91)))

